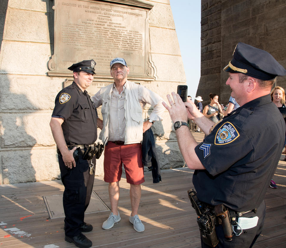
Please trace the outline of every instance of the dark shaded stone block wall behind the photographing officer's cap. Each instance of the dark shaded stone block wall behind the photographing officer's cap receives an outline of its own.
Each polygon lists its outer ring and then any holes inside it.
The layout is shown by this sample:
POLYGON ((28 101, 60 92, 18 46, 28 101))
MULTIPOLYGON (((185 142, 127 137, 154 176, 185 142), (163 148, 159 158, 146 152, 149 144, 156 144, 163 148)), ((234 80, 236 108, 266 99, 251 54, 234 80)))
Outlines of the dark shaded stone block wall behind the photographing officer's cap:
MULTIPOLYGON (((228 74, 223 72, 238 42, 263 49, 286 67, 286 2, 282 0, 202 0, 201 78, 197 95, 209 103, 209 93, 217 93, 227 104, 228 74)), ((286 77, 277 78, 286 89, 286 77)))

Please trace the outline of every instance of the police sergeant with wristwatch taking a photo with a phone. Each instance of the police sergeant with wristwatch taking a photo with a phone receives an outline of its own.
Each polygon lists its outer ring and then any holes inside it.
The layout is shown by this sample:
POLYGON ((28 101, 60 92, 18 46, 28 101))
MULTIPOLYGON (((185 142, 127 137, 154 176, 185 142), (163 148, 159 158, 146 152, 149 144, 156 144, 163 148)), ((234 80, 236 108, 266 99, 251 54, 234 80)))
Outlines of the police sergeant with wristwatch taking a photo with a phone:
MULTIPOLYGON (((286 75, 286 70, 268 52, 241 42, 223 70, 229 73, 226 85, 240 108, 219 123, 213 125, 193 102, 182 102, 174 92, 173 100, 167 95, 171 106, 163 105, 174 122, 186 164, 195 169, 193 184, 204 211, 223 206, 229 214, 228 222, 215 222, 218 242, 212 245, 200 226, 202 247, 252 247, 262 231, 263 199, 285 140, 285 122, 271 102, 270 90, 276 76, 286 75), (199 145, 188 132, 188 118, 209 134, 199 145)), ((224 217, 215 215, 214 221, 224 217)))

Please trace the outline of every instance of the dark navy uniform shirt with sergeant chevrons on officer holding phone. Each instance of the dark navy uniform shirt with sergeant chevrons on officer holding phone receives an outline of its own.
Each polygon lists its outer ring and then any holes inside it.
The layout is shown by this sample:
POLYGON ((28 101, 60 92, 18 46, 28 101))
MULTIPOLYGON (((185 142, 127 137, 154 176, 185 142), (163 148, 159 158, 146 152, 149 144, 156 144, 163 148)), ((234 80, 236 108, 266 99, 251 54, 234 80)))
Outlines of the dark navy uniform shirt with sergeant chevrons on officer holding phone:
POLYGON ((281 156, 285 121, 270 95, 237 108, 219 122, 195 152, 206 170, 195 170, 198 198, 235 211, 257 208, 281 156))

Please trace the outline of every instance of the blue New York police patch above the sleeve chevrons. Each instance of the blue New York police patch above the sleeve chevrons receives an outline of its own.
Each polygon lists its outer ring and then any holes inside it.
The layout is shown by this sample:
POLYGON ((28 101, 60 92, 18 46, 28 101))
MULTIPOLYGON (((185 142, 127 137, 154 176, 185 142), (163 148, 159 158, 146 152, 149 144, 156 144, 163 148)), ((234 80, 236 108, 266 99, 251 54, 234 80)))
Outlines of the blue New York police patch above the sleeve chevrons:
POLYGON ((228 144, 239 137, 239 133, 233 124, 230 122, 224 123, 215 135, 215 145, 228 144))

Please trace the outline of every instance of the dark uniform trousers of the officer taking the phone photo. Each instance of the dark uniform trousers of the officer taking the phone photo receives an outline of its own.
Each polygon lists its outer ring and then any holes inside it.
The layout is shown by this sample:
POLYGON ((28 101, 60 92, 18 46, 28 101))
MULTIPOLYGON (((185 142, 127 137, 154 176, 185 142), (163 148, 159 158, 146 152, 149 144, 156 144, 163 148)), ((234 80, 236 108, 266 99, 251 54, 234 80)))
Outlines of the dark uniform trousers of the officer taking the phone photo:
MULTIPOLYGON (((223 232, 223 225, 218 225, 215 227, 215 231, 217 234, 217 238, 219 240, 219 243, 216 245, 216 248, 247 248, 252 247, 259 237, 260 233, 262 232, 264 219, 265 219, 265 211, 266 206, 265 202, 263 201, 260 206, 257 208, 257 213, 250 212, 247 214, 243 214, 242 217, 250 218, 258 216, 258 223, 256 227, 249 228, 243 230, 243 232, 240 234, 240 236, 235 236, 235 234, 232 236, 232 240, 228 241, 226 240, 223 232)), ((239 231, 236 231, 239 233, 239 231)), ((201 245, 202 248, 212 248, 209 245, 206 245, 203 243, 201 239, 201 245)))

